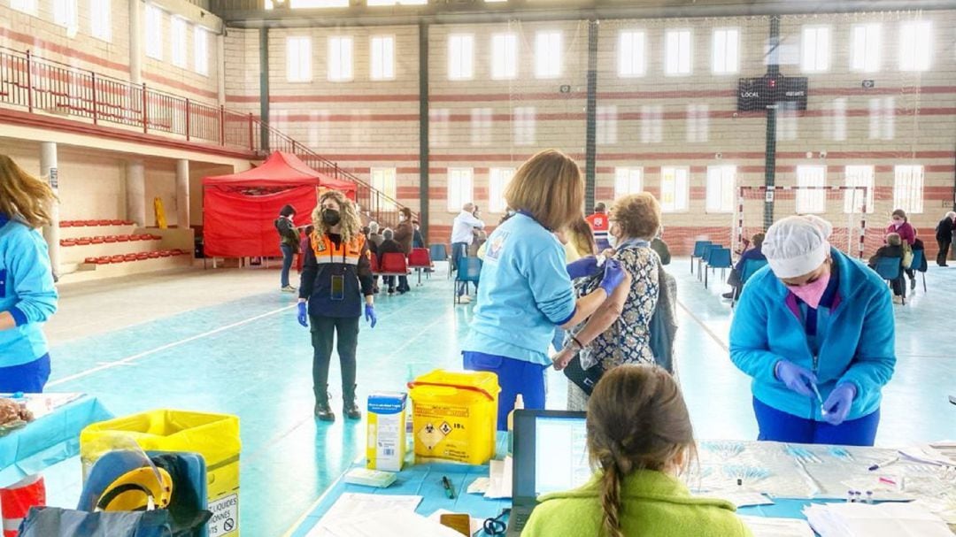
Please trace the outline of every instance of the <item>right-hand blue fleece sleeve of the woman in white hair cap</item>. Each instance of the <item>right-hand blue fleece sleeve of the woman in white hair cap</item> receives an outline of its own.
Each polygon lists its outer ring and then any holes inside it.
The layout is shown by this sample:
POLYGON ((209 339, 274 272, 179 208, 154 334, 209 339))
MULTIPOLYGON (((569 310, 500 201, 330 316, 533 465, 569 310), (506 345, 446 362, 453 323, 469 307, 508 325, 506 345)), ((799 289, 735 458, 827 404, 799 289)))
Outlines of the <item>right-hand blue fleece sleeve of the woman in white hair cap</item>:
MULTIPOLYGON (((857 354, 839 382, 850 382, 857 394, 879 391, 893 376, 896 368, 896 323, 889 288, 871 297, 859 335, 857 354)), ((837 382, 837 384, 839 383, 837 382)))

